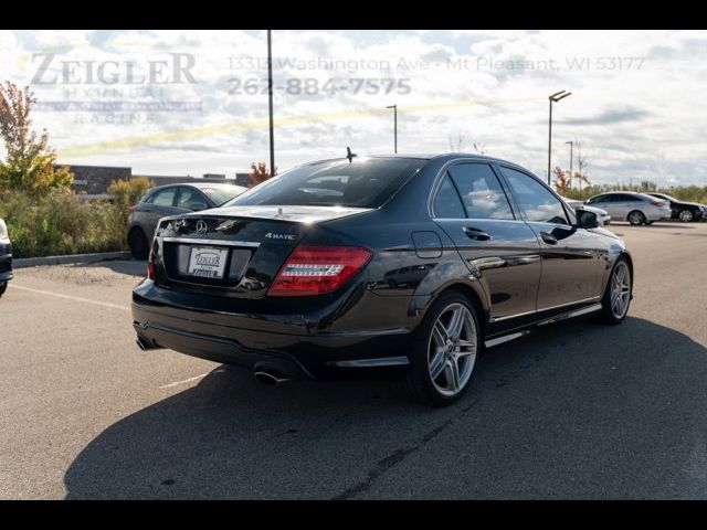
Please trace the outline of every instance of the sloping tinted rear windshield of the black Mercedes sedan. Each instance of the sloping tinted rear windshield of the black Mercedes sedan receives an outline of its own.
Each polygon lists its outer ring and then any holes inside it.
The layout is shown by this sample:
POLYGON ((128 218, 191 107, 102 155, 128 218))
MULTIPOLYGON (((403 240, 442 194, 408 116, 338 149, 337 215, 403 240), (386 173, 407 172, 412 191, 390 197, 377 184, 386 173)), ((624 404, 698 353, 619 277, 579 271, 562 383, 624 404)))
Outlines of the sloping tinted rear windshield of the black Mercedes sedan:
POLYGON ((378 208, 425 162, 414 158, 317 162, 266 180, 225 205, 378 208))

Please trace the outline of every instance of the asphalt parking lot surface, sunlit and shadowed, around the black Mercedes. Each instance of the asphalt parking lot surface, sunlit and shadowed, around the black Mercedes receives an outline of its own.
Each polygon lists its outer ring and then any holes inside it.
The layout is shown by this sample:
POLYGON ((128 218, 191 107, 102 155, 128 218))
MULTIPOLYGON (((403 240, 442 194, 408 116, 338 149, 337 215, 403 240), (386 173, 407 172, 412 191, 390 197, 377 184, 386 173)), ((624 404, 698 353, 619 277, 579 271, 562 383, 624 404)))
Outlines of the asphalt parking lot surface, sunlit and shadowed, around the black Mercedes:
POLYGON ((0 300, 1 498, 707 498, 707 223, 611 230, 629 318, 478 360, 456 405, 135 346, 140 262, 17 272, 0 300))

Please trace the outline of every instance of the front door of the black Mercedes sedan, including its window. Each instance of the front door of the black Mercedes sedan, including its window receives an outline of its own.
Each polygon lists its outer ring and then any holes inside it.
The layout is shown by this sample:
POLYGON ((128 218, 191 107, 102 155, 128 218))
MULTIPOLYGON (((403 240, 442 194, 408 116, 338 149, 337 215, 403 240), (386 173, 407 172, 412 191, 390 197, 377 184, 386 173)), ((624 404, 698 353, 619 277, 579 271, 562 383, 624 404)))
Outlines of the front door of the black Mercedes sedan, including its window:
POLYGON ((601 236, 579 229, 574 214, 539 179, 502 166, 523 216, 540 240, 542 272, 538 312, 589 303, 598 296, 601 236))

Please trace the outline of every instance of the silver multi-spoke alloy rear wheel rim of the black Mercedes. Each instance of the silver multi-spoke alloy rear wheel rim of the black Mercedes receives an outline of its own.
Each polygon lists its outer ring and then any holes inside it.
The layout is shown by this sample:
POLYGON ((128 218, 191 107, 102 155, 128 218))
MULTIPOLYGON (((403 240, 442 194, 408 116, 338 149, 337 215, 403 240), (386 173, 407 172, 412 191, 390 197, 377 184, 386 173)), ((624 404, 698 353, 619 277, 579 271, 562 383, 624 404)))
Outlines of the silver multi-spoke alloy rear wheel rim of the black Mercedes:
POLYGON ((428 346, 428 369, 436 390, 454 396, 468 382, 476 362, 476 322, 468 308, 450 304, 437 317, 428 346))

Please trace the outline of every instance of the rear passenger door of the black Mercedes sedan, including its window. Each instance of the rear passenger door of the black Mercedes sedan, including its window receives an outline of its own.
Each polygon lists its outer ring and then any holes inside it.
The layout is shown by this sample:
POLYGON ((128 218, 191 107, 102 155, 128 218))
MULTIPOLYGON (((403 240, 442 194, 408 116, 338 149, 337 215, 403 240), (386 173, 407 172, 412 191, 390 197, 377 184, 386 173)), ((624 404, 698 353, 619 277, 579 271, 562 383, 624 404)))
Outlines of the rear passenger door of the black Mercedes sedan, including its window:
POLYGON ((451 166, 432 204, 435 223, 454 241, 472 276, 488 296, 490 321, 534 316, 540 280, 540 245, 516 215, 488 163, 451 166))

